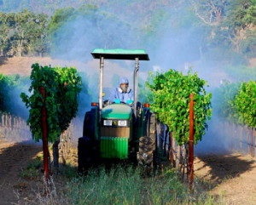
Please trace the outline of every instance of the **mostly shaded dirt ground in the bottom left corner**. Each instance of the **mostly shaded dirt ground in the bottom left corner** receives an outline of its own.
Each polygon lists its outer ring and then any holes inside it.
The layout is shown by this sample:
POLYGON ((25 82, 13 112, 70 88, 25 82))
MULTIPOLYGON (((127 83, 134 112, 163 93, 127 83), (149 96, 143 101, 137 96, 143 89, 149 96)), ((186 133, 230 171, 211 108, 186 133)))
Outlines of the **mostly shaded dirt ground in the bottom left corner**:
POLYGON ((40 145, 0 141, 0 204, 9 205, 32 196, 36 181, 22 179, 20 173, 42 148, 40 145))

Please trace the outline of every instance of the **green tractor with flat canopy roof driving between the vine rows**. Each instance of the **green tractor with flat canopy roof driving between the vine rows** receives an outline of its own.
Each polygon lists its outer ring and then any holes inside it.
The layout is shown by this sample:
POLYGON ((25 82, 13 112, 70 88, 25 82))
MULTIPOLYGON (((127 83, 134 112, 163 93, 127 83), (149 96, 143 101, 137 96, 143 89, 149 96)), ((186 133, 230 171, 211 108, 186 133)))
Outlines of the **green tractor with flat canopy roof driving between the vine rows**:
POLYGON ((144 50, 95 49, 100 60, 98 102, 91 103, 84 116, 83 137, 79 138, 79 172, 102 161, 132 160, 148 170, 154 168, 156 152, 156 119, 149 104, 137 100, 139 60, 149 60, 144 50), (134 102, 106 104, 103 100, 104 60, 135 60, 133 73, 134 102))

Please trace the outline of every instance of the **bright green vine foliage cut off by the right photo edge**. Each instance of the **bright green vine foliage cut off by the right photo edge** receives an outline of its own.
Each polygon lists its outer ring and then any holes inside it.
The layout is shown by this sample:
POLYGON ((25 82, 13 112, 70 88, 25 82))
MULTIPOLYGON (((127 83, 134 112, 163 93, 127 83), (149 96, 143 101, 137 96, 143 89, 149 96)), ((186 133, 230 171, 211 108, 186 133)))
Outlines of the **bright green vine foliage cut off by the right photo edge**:
POLYGON ((241 83, 232 102, 236 109, 238 122, 256 128, 256 82, 241 83))

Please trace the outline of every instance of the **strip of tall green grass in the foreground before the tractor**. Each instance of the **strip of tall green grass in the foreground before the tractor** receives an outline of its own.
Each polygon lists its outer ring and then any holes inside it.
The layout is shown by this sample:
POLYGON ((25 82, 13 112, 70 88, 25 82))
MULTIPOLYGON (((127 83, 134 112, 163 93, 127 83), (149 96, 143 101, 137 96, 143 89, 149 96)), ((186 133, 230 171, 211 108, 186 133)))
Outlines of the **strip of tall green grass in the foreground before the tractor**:
POLYGON ((91 170, 67 183, 71 204, 216 204, 204 191, 191 196, 177 172, 172 169, 143 178, 136 168, 114 167, 91 170), (200 193, 200 194, 199 194, 200 193), (192 200, 191 200, 192 199, 192 200))

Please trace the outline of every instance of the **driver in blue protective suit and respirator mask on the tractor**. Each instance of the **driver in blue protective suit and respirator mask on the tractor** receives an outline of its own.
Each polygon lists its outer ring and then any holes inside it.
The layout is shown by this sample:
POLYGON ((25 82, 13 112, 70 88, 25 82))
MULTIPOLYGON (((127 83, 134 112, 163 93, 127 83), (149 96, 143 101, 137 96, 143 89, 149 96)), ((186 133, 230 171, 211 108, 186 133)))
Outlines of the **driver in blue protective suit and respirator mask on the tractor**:
POLYGON ((127 77, 120 77, 119 87, 114 88, 109 100, 113 103, 125 103, 132 105, 134 101, 133 91, 129 88, 129 81, 127 77))

